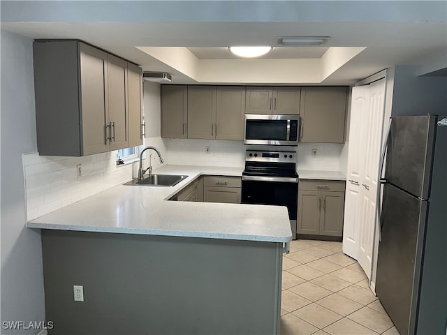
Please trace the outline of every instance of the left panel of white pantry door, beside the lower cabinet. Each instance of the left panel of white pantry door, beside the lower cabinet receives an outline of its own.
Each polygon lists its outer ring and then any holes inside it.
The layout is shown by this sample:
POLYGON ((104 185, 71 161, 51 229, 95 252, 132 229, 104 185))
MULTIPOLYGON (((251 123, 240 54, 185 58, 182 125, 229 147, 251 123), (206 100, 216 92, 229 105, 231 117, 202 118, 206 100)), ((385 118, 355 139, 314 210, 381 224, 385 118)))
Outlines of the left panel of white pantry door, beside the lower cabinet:
POLYGON ((343 252, 358 259, 360 248, 360 228, 362 222, 362 152, 363 129, 369 118, 369 85, 353 87, 351 102, 351 121, 349 126, 349 151, 344 202, 343 252))

